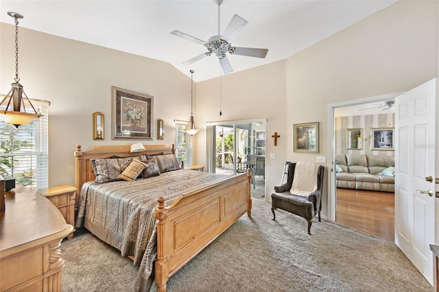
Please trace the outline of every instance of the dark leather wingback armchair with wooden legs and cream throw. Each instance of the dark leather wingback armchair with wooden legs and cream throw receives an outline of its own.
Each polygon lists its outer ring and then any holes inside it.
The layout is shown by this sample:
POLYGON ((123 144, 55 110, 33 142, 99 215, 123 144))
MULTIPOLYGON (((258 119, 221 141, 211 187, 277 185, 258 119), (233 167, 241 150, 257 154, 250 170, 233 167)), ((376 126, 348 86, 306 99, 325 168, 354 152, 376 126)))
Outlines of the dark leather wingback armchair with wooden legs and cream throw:
MULTIPOLYGON (((303 162, 298 163, 302 164, 303 162)), ((274 210, 276 209, 282 209, 298 215, 308 221, 308 234, 311 235, 313 218, 318 215, 318 221, 321 222, 320 211, 322 210, 324 167, 322 165, 311 164, 316 178, 309 178, 306 176, 298 177, 298 173, 295 174, 296 165, 297 163, 290 163, 288 165, 287 182, 285 184, 274 186, 274 193, 272 193, 273 220, 276 220, 276 214, 274 213, 274 210), (307 184, 307 181, 313 182, 313 186, 305 186, 305 188, 315 188, 315 190, 309 192, 309 194, 301 193, 301 195, 295 195, 294 190, 292 190, 295 175, 296 180, 298 180, 298 182, 300 181, 300 184, 302 185, 307 184)), ((303 174, 302 171, 300 173, 303 174)))

